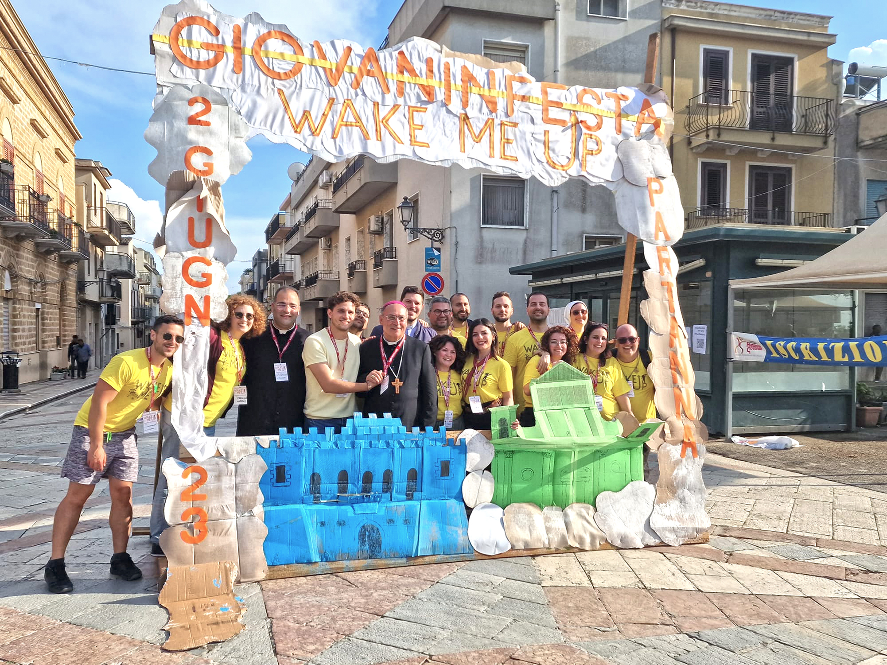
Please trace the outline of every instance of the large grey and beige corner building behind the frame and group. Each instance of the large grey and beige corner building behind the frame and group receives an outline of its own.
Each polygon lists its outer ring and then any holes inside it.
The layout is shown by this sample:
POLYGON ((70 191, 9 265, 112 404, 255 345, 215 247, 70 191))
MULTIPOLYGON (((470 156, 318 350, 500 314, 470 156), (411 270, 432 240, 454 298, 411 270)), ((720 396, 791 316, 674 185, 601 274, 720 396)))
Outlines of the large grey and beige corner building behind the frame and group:
MULTIPOLYGON (((631 12, 625 0, 405 0, 383 46, 421 36, 522 62, 540 80, 609 88, 641 82, 660 18, 659 0, 632 2, 631 12)), ((304 325, 324 325, 323 301, 340 288, 374 309, 420 285, 431 242, 400 223, 404 197, 412 228, 443 231, 443 293, 467 293, 479 316, 489 315, 500 289, 525 316, 527 279, 510 275, 510 266, 624 239, 612 194, 583 181, 551 188, 480 168, 314 158, 266 231, 271 289, 300 287, 304 325)))

